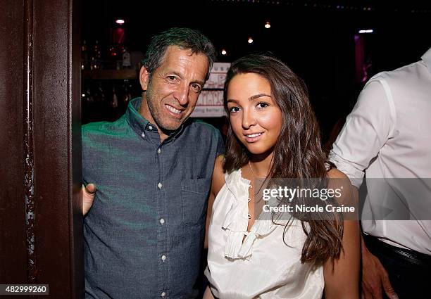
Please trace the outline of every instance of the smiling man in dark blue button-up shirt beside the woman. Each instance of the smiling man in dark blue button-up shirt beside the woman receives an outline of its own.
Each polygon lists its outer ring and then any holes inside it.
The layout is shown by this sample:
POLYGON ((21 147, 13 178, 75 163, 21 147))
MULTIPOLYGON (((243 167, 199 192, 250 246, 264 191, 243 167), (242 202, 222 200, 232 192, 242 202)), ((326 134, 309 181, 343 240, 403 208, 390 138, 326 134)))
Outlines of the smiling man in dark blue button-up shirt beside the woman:
POLYGON ((187 120, 213 63, 199 32, 151 39, 135 98, 115 122, 82 127, 86 298, 195 298, 220 133, 187 120), (94 192, 94 185, 87 187, 94 192), (85 193, 85 190, 84 190, 85 193), (88 193, 85 193, 88 195, 88 193))

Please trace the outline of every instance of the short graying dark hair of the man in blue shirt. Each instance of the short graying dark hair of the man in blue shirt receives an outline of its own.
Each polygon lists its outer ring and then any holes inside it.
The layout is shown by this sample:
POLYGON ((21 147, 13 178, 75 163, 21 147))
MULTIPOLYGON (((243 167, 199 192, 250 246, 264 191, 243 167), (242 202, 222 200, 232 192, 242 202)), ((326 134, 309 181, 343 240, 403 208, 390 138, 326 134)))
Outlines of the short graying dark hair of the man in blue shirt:
POLYGON ((192 53, 204 54, 209 62, 206 74, 206 79, 208 79, 215 58, 214 45, 204 34, 189 28, 170 28, 151 38, 144 59, 142 59, 142 64, 150 74, 162 64, 168 46, 179 46, 181 49, 192 50, 192 53))

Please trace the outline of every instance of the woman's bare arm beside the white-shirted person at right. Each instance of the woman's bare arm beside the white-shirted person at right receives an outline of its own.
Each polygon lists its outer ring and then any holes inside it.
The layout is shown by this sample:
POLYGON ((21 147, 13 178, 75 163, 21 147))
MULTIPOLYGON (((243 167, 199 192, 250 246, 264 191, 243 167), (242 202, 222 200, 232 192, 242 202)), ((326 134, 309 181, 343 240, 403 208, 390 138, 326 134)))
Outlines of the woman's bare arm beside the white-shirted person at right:
MULTIPOLYGON (((331 170, 330 179, 335 184, 342 184, 344 196, 341 203, 356 202, 353 187, 345 174, 339 170, 331 170), (338 180, 337 180, 338 179, 338 180), (341 182, 341 183, 340 183, 341 182)), ((356 207, 357 208, 357 207, 356 207)), ((351 215, 349 215, 351 219, 351 215)), ((361 259, 360 230, 358 220, 344 220, 342 238, 343 250, 338 260, 327 260, 323 267, 325 276, 325 299, 358 299, 359 298, 359 267, 361 259)))

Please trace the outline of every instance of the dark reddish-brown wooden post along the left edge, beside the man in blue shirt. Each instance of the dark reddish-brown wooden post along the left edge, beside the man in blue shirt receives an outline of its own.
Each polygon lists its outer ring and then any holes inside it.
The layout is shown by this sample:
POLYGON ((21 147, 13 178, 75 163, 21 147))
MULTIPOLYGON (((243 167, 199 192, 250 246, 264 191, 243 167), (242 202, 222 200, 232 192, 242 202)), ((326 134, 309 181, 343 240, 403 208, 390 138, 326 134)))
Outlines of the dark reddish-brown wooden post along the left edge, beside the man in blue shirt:
POLYGON ((49 298, 84 288, 78 4, 0 0, 0 284, 49 298))

